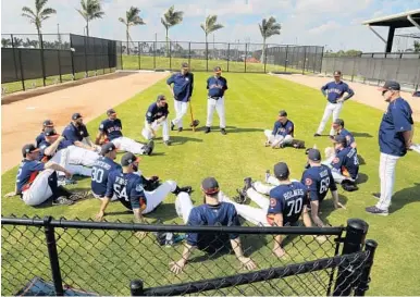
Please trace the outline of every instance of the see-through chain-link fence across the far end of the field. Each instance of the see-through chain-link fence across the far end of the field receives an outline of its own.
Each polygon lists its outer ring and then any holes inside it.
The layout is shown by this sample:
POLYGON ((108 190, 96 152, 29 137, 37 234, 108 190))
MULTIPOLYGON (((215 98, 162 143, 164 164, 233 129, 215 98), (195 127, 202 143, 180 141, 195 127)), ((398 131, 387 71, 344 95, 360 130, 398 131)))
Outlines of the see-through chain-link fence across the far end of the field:
POLYGON ((122 41, 119 45, 123 70, 178 70, 188 62, 194 71, 311 72, 320 73, 323 47, 295 45, 122 41))

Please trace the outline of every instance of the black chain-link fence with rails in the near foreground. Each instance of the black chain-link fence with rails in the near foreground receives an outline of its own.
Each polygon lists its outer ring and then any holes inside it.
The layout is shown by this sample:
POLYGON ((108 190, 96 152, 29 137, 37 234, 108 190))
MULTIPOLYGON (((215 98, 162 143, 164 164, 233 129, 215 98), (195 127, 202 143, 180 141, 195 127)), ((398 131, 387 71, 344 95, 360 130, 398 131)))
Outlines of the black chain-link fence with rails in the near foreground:
POLYGON ((360 220, 326 228, 193 227, 46 216, 2 218, 1 228, 2 295, 362 296, 376 248, 365 242, 368 225, 360 220), (224 246, 194 250, 183 273, 172 273, 192 233, 214 240, 238 234, 257 269, 246 272, 224 246), (279 234, 286 237, 282 258, 272 252, 279 234))

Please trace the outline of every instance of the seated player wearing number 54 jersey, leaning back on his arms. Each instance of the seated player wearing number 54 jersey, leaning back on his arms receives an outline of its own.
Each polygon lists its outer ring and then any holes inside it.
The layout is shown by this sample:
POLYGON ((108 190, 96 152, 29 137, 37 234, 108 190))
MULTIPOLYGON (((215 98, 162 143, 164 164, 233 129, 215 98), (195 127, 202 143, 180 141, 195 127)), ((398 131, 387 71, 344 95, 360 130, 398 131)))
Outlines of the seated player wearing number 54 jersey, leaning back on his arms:
MULTIPOLYGON (((121 165, 123 171, 114 170, 108 176, 107 193, 102 199, 99 213, 96 215, 101 220, 104 211, 115 195, 116 198, 129 210, 133 210, 135 222, 144 223, 144 214, 153 211, 163 200, 168 194, 173 193, 178 195, 181 191, 190 193, 192 187, 180 188, 176 182, 166 181, 153 191, 145 191, 144 178, 138 175, 139 158, 131 152, 126 152, 121 158, 121 165)), ((145 233, 137 233, 138 236, 144 237, 145 233)))

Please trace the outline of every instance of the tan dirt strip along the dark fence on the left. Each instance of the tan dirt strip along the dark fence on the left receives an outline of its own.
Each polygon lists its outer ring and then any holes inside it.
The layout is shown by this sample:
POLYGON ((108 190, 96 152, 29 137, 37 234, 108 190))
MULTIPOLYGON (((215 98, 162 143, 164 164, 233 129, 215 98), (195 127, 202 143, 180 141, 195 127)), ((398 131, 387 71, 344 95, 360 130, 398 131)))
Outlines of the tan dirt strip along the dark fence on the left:
POLYGON ((34 91, 35 97, 3 104, 1 172, 18 164, 22 146, 35 141, 44 120, 52 120, 58 132, 69 124, 74 112, 81 112, 87 123, 168 75, 165 72, 115 73, 42 95, 34 91))

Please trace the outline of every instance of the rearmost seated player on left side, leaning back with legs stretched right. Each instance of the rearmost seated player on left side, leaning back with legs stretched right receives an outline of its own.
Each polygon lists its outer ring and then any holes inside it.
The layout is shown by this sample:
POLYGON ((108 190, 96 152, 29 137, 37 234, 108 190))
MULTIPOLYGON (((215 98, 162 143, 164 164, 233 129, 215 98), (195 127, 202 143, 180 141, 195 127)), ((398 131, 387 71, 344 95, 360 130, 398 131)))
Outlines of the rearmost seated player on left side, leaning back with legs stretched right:
POLYGON ((107 111, 108 119, 103 120, 99 125, 99 132, 96 137, 96 144, 100 144, 102 137, 107 137, 109 141, 112 141, 119 150, 128 151, 136 154, 151 154, 155 144, 149 141, 147 145, 137 143, 128 137, 124 137, 123 124, 121 120, 116 117, 116 112, 113 109, 107 111))

